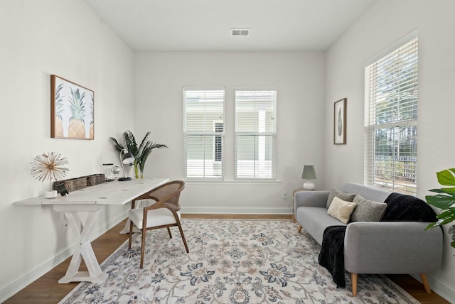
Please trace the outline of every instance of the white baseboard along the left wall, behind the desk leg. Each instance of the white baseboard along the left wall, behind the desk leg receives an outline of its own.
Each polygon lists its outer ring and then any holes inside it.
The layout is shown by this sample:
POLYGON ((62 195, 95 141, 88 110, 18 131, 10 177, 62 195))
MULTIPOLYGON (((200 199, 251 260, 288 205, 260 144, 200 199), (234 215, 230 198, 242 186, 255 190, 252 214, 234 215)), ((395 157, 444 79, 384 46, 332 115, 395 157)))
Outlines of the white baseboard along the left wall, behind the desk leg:
MULTIPOLYGON (((107 230, 111 229, 112 227, 122 222, 125 219, 124 212, 120 215, 117 215, 114 219, 110 220, 109 222, 102 225, 102 227, 95 230, 92 234, 91 240, 97 239, 102 234, 107 232, 107 230)), ((68 259, 74 252, 76 242, 73 244, 68 245, 64 249, 55 253, 55 255, 50 256, 48 259, 43 261, 43 263, 31 268, 30 270, 22 273, 16 278, 11 279, 10 281, 6 282, 4 285, 0 286, 0 303, 11 298, 13 295, 21 291, 26 286, 36 281, 38 278, 41 278, 45 273, 48 273, 50 270, 58 266, 58 264, 68 259)))

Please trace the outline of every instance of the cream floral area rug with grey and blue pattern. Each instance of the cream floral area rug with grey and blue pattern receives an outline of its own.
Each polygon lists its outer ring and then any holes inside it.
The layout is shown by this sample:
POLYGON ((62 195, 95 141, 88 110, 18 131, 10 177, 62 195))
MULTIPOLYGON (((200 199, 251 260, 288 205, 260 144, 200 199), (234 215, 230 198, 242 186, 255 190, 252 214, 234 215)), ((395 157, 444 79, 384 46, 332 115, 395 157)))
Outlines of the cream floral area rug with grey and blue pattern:
POLYGON ((359 275, 358 297, 318 264, 321 246, 291 220, 183 219, 140 233, 102 264, 102 284, 80 283, 60 303, 419 303, 385 276, 359 275))

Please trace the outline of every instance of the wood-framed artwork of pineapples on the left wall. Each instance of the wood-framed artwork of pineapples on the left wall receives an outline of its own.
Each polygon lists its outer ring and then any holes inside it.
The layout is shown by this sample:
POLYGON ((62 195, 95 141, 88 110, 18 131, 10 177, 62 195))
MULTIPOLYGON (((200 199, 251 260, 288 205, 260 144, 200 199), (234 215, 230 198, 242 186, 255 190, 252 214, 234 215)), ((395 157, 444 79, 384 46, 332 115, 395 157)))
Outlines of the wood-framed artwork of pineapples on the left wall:
POLYGON ((94 139, 95 92, 50 75, 50 137, 94 139))

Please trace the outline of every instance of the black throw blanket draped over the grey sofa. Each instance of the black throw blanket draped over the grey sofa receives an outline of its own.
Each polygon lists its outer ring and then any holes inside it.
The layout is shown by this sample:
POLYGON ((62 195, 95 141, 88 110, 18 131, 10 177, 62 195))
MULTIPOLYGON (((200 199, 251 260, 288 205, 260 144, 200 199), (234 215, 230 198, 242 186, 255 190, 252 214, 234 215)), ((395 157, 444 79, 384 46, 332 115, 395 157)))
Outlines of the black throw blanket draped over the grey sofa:
MULTIPOLYGON (((385 200, 382 222, 436 222, 436 213, 426 202, 412 195, 393 192, 385 200)), ((336 287, 345 288, 344 234, 346 226, 327 227, 323 233, 319 264, 331 273, 336 287)))

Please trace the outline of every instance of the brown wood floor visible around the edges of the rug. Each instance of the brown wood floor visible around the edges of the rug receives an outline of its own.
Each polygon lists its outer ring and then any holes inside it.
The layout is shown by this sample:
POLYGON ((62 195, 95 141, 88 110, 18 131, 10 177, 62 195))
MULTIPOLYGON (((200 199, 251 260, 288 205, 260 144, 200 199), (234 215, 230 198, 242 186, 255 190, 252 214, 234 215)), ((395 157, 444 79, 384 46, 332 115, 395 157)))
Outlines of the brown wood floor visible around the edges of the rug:
MULTIPOLYGON (((182 215, 183 218, 218 218, 218 219, 291 219, 291 215, 182 215)), ((125 221, 120 222, 117 226, 110 229, 101 237, 92 241, 93 250, 97 256, 98 261, 101 262, 107 259, 112 252, 117 249, 125 240, 128 239, 128 234, 119 234, 120 230, 124 228, 125 221)), ((296 227, 297 229, 297 227, 296 227)), ((63 261, 60 265, 53 268, 44 276, 31 283, 22 291, 16 293, 11 298, 4 302, 5 304, 51 304, 58 303, 70 291, 77 286, 77 282, 68 284, 59 284, 58 280, 65 275, 65 272, 70 264, 70 259, 63 261)), ((83 264, 83 262, 82 262, 83 264)), ((86 270, 82 266, 82 271, 86 270)), ((436 293, 428 294, 424 291, 422 283, 412 278, 409 275, 392 275, 389 276, 392 281, 401 286, 407 293, 410 293, 414 298, 419 300, 420 303, 431 304, 449 304, 448 301, 441 298, 436 293)))

